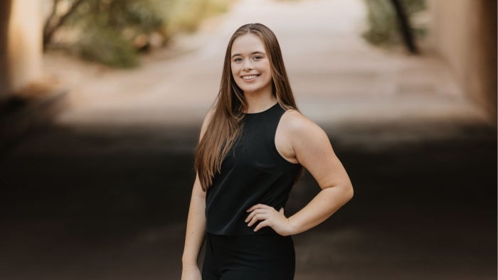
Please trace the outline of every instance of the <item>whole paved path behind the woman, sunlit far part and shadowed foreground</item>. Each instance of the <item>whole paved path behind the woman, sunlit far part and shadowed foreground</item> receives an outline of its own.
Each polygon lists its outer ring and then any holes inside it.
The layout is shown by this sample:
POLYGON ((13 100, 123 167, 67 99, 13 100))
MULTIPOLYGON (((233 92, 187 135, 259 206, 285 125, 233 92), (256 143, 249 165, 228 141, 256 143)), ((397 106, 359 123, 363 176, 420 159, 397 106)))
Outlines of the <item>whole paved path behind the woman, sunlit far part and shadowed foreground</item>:
MULTIPOLYGON (((229 36, 261 22, 355 186, 295 237, 296 279, 496 279, 496 130, 435 55, 361 41, 363 17, 359 0, 242 0, 138 70, 48 55, 71 107, 1 158, 0 278, 178 279, 198 128, 229 36)), ((286 212, 318 190, 305 175, 286 212)))

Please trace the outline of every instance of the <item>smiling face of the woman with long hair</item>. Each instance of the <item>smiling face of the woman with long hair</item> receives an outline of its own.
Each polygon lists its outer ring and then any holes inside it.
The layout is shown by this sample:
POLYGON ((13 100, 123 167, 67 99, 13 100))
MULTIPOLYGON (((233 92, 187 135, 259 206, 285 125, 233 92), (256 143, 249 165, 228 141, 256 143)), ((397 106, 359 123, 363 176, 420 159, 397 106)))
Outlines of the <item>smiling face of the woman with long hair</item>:
POLYGON ((272 93, 272 72, 265 45, 253 33, 247 33, 233 41, 231 51, 233 80, 244 95, 272 93))

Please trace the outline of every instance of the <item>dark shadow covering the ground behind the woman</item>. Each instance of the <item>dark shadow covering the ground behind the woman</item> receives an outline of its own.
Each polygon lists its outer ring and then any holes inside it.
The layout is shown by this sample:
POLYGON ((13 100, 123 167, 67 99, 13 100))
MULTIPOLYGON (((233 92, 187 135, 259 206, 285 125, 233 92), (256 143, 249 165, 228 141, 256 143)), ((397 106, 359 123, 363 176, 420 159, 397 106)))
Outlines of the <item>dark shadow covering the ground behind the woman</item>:
MULTIPOLYGON (((295 237, 296 279, 496 279, 496 129, 373 146, 386 129, 359 127, 356 144, 327 129, 355 197, 295 237)), ((0 278, 179 279, 197 136, 52 126, 26 137, 0 162, 0 278)), ((305 174, 286 212, 318 190, 305 174)))

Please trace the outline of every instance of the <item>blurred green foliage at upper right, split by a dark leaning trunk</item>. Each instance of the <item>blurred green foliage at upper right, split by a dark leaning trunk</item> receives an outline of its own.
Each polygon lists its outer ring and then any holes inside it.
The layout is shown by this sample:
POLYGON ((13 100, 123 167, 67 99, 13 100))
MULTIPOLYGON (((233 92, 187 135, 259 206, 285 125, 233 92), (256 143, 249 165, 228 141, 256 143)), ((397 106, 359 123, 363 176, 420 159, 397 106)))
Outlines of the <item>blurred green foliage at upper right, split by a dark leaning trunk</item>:
MULTIPOLYGON (((398 45, 402 39, 398 31, 398 19, 396 11, 389 0, 364 0, 367 8, 367 22, 369 29, 362 36, 373 45, 398 45)), ((427 33, 427 27, 417 16, 426 11, 425 0, 401 0, 408 19, 410 20, 412 32, 415 38, 423 38, 427 33)))

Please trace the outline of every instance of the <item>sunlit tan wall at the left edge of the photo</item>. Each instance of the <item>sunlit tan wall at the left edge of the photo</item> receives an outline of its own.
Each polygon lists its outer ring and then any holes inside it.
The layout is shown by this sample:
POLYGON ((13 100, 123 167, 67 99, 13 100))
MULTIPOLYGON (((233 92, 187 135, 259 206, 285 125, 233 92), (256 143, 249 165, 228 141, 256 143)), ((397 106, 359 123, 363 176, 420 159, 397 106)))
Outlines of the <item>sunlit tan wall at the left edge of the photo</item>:
POLYGON ((41 75, 41 1, 0 1, 0 100, 41 75))

